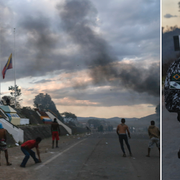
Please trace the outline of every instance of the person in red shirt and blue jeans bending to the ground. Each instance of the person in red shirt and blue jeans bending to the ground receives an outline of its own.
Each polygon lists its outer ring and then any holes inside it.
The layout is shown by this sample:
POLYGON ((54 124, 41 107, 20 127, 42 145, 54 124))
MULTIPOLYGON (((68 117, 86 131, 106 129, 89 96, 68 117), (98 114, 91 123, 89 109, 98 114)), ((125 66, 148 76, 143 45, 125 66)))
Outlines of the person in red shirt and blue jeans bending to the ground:
POLYGON ((40 137, 37 137, 36 139, 28 140, 21 145, 21 151, 25 154, 25 157, 24 157, 20 167, 26 166, 26 163, 27 163, 30 156, 34 159, 35 163, 41 162, 40 152, 39 152, 39 143, 41 142, 41 140, 42 139, 40 137), (34 148, 34 147, 36 148, 36 152, 37 152, 39 159, 36 158, 36 154, 32 150, 32 148, 34 148))

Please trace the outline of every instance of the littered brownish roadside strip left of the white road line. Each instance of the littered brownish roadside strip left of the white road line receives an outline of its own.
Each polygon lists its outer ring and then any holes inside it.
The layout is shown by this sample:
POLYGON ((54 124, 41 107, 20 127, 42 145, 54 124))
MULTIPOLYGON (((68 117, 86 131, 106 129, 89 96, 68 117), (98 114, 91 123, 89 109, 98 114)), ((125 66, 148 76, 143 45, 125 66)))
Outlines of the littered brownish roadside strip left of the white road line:
MULTIPOLYGON (((43 139, 39 144, 40 156, 42 162, 50 159, 57 153, 63 151, 71 144, 79 141, 82 138, 88 137, 86 134, 71 135, 71 136, 60 136, 59 148, 52 149, 52 139, 47 138, 43 139)), ((33 148, 36 152, 36 149, 33 148)), ((20 164, 24 158, 20 147, 12 147, 8 149, 9 162, 12 163, 12 166, 6 166, 6 160, 4 152, 1 152, 1 166, 0 166, 0 179, 1 180, 25 180, 28 175, 31 174, 33 168, 37 167, 40 164, 35 164, 33 159, 30 157, 26 168, 21 168, 20 164)))

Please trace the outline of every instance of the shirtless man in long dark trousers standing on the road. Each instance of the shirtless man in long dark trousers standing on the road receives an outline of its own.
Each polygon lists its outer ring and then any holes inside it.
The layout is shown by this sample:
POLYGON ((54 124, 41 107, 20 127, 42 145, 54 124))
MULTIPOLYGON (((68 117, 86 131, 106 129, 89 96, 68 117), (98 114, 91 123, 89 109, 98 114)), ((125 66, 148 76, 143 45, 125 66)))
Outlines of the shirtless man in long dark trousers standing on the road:
POLYGON ((125 119, 122 118, 121 119, 121 124, 119 124, 117 126, 116 133, 119 136, 119 142, 120 142, 121 149, 122 149, 122 152, 123 152, 123 157, 126 157, 123 141, 125 141, 126 146, 127 146, 128 150, 129 150, 129 154, 130 154, 130 156, 132 156, 131 148, 130 148, 130 145, 129 145, 129 142, 128 142, 128 137, 127 137, 126 132, 128 133, 129 138, 131 138, 131 135, 130 135, 130 132, 129 132, 129 128, 125 124, 125 119))

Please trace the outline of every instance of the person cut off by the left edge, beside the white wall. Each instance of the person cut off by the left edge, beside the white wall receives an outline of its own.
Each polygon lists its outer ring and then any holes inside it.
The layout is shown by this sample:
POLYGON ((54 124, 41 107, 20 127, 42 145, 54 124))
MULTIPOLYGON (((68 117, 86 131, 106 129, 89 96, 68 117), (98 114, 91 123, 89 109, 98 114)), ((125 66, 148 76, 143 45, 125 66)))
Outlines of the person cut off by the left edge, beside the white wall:
POLYGON ((1 153, 1 151, 4 151, 5 158, 6 158, 6 164, 7 164, 7 166, 10 166, 12 164, 8 160, 8 150, 7 150, 7 146, 6 146, 6 141, 7 141, 6 133, 7 133, 6 129, 4 129, 2 123, 0 123, 0 153, 1 153))

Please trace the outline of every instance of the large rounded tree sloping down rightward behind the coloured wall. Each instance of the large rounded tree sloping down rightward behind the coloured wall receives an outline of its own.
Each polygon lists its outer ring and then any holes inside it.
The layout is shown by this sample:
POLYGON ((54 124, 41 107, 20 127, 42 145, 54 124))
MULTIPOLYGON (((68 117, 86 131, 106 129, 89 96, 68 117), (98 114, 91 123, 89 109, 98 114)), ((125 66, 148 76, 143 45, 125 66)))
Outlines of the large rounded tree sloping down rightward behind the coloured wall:
POLYGON ((34 107, 39 108, 41 111, 53 112, 59 120, 63 122, 63 117, 60 115, 59 111, 56 109, 56 105, 51 100, 50 95, 39 93, 35 96, 34 107))

